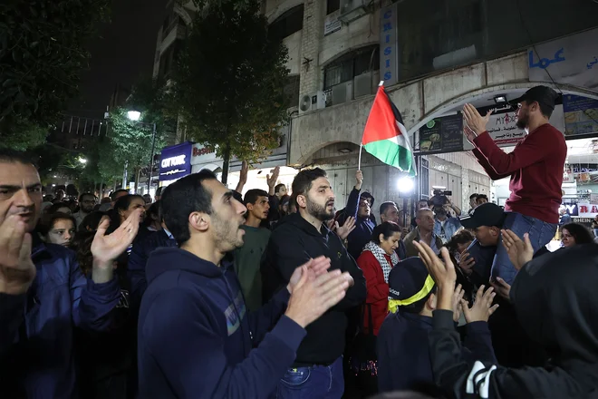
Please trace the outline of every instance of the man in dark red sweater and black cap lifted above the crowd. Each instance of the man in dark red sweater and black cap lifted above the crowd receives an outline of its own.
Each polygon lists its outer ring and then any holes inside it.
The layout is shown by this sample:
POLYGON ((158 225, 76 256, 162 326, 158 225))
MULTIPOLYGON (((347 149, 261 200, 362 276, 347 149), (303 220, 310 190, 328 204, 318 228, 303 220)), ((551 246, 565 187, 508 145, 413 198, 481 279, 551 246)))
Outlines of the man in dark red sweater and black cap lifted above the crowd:
MULTIPOLYGON (((548 122, 557 97, 553 89, 535 86, 514 101, 518 107, 517 127, 525 129, 527 135, 510 153, 500 150, 487 132, 491 112, 482 117, 471 104, 463 108, 465 134, 475 147, 473 153, 479 164, 492 180, 511 178, 504 229, 514 231, 520 238, 529 233, 535 251, 555 237, 562 200, 567 146, 563 133, 548 122)), ((470 255, 475 258, 471 251, 470 255)), ((491 277, 501 277, 512 284, 515 276, 516 268, 500 239, 491 277)))

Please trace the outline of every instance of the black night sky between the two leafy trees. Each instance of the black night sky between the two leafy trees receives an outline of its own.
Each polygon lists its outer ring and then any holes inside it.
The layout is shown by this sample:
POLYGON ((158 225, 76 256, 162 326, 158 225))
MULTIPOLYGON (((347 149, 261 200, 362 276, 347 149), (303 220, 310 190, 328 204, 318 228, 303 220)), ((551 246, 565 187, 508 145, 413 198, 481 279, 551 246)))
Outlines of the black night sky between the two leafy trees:
POLYGON ((117 83, 130 88, 140 75, 150 75, 166 0, 113 0, 111 24, 99 27, 92 40, 90 70, 82 73, 80 98, 69 113, 100 118, 117 83))

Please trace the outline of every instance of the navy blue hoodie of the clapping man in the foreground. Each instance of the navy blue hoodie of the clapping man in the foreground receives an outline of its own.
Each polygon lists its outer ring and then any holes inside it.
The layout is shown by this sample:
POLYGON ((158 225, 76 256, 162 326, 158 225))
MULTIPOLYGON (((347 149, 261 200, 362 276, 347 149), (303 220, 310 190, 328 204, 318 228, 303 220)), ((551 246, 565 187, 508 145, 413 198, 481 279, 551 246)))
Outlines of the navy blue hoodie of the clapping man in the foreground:
POLYGON ((155 250, 146 276, 138 328, 140 398, 274 393, 305 336, 283 315, 287 290, 249 313, 232 262, 217 267, 179 248, 155 250))

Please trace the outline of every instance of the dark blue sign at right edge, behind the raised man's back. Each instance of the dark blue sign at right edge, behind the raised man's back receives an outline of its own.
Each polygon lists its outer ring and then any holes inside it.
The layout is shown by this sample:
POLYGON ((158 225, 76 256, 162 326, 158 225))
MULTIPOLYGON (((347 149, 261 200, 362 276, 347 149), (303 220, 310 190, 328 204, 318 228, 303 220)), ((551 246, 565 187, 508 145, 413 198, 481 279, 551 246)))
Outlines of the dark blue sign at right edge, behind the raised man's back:
MULTIPOLYGON (((596 67, 598 74, 598 67, 596 67)), ((564 134, 574 136, 598 131, 598 100, 579 95, 563 96, 564 134)))

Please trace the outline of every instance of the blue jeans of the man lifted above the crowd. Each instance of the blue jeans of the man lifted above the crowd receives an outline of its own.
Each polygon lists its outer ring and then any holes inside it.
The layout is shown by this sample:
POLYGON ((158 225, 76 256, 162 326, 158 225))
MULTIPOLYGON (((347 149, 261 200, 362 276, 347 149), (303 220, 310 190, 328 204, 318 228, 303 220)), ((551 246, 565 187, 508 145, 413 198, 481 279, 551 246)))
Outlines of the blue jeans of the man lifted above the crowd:
MULTIPOLYGON (((517 212, 506 212, 506 219, 503 224, 503 229, 513 231, 521 239, 523 239, 525 233, 528 233, 534 252, 544 247, 555 237, 557 227, 556 223, 546 223, 540 219, 525 216, 517 212)), ((476 259, 474 270, 483 271, 489 269, 490 278, 501 277, 506 283, 512 285, 517 270, 506 254, 502 237, 498 239, 496 249, 492 263, 489 263, 489 250, 481 247, 477 241, 474 241, 468 248, 469 255, 476 259)))

